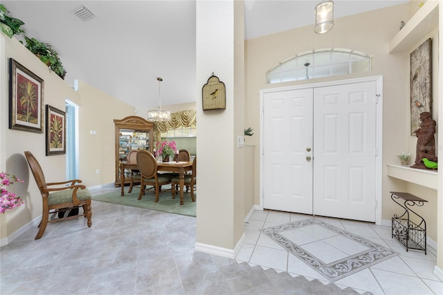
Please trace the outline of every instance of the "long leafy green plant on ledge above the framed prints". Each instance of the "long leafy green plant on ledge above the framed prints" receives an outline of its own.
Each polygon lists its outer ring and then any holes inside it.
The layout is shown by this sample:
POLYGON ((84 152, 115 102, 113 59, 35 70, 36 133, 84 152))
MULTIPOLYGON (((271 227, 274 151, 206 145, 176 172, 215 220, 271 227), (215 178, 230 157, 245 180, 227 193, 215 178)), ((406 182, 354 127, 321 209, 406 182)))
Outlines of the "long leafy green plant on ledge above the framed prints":
POLYGON ((25 46, 30 52, 34 53, 39 59, 49 66, 60 78, 64 79, 66 75, 66 70, 58 57, 57 51, 54 50, 53 46, 48 43, 40 42, 35 38, 30 38, 24 36, 25 46))

